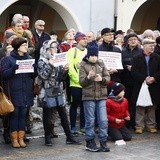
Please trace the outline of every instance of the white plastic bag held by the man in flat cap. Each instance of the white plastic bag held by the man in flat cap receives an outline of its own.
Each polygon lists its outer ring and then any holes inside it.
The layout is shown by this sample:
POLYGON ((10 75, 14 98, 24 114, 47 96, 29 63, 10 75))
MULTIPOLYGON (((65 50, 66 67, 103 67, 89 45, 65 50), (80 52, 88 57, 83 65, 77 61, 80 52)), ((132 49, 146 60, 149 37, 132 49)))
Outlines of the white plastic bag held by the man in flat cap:
POLYGON ((138 99, 136 102, 136 106, 142 106, 142 107, 153 106, 146 81, 142 83, 138 99))

